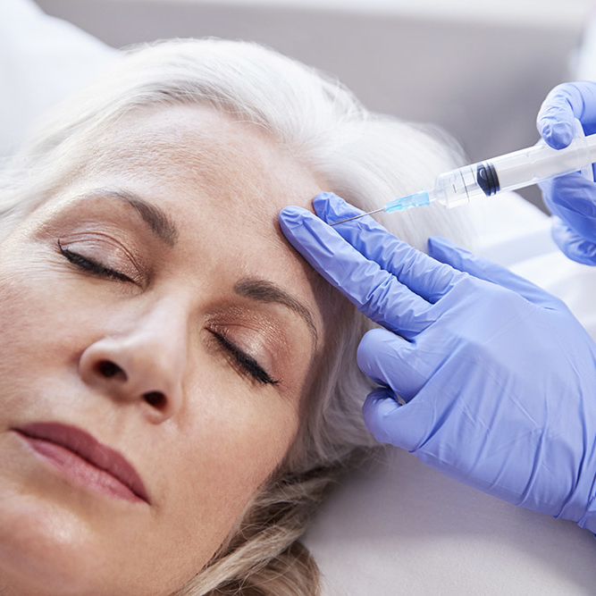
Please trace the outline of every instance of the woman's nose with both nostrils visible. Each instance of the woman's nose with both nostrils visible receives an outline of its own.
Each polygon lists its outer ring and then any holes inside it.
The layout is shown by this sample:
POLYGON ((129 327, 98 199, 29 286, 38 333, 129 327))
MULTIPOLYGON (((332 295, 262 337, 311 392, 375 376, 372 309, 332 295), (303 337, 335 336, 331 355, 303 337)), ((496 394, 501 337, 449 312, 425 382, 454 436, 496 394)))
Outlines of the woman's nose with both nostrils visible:
POLYGON ((187 326, 180 306, 154 306, 125 332, 107 333, 80 356, 80 377, 112 399, 138 402, 158 424, 180 410, 187 326))

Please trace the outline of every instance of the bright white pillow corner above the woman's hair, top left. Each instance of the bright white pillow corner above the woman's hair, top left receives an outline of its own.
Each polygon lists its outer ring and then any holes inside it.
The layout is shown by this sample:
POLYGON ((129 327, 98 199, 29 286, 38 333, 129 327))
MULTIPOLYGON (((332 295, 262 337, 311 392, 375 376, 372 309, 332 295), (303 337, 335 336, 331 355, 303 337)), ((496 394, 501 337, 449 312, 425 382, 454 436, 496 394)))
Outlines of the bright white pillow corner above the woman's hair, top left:
POLYGON ((84 87, 117 54, 32 0, 0 0, 0 157, 13 152, 40 113, 84 87))

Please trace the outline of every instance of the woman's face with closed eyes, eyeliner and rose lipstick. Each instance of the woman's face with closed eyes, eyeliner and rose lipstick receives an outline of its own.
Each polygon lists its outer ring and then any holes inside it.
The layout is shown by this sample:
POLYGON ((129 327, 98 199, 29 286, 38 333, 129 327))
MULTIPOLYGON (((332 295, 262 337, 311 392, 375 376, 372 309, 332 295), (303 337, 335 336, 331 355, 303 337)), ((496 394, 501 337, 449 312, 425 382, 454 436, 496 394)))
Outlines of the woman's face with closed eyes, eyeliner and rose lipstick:
POLYGON ((320 190, 255 127, 160 107, 0 242, 0 592, 166 594, 222 544, 323 349, 277 226, 320 190))

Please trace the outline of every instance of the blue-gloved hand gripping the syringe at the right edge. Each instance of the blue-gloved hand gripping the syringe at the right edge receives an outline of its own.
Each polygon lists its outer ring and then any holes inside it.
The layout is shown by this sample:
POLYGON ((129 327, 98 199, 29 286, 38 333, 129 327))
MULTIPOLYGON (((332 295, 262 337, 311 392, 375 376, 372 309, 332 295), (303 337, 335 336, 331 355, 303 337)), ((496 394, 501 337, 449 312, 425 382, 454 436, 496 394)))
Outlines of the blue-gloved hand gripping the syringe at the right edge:
MULTIPOLYGON (((564 83, 552 89, 536 125, 550 147, 561 149, 574 139, 575 118, 586 135, 596 132, 596 82, 564 83)), ((552 237, 558 248, 578 263, 596 264, 596 183, 574 172, 545 180, 540 187, 554 215, 552 237)))

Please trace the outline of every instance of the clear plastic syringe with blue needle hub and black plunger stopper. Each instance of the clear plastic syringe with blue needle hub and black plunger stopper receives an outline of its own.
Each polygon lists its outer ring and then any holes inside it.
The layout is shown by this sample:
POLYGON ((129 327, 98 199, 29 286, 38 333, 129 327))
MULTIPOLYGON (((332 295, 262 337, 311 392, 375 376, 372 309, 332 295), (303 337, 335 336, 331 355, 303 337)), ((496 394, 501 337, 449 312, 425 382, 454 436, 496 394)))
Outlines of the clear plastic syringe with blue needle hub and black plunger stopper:
POLYGON ((465 205, 474 198, 490 197, 504 190, 523 189, 547 178, 582 170, 595 162, 596 134, 576 136, 564 149, 553 149, 540 142, 527 149, 444 172, 437 176, 432 189, 396 198, 379 209, 348 217, 332 225, 382 211, 392 213, 430 205, 434 201, 449 208, 465 205))

